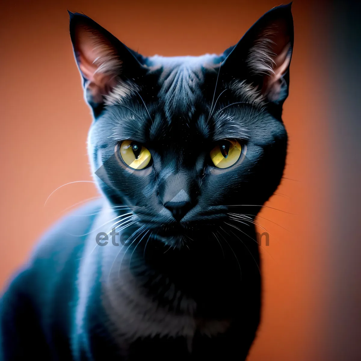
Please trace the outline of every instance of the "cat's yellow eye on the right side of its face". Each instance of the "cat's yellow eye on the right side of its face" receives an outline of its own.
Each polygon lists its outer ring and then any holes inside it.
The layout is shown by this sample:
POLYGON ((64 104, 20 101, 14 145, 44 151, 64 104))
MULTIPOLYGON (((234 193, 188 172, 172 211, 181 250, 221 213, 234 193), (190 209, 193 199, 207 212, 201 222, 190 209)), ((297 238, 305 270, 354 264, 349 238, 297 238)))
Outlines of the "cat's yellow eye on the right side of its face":
POLYGON ((237 140, 223 139, 210 151, 210 158, 217 168, 228 168, 238 161, 242 146, 237 140))

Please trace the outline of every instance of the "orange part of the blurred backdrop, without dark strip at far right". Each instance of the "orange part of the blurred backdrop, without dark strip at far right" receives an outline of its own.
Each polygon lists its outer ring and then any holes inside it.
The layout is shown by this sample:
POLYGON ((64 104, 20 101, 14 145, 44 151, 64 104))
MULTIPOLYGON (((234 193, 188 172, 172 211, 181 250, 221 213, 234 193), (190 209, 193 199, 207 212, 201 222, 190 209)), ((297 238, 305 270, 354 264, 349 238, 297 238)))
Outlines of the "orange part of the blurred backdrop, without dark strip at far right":
MULTIPOLYGON (((329 130, 315 86, 322 74, 313 66, 310 3, 292 5, 295 47, 283 114, 289 152, 285 178, 266 203, 277 210, 265 207, 258 218, 270 243, 261 248, 264 308, 249 361, 322 360, 329 130)), ((62 184, 92 180, 86 153, 91 116, 66 9, 85 13, 143 55, 177 56, 223 52, 276 5, 275 0, 2 4, 1 288, 47 227, 73 204, 97 196, 92 183, 73 183, 44 206, 62 184)))

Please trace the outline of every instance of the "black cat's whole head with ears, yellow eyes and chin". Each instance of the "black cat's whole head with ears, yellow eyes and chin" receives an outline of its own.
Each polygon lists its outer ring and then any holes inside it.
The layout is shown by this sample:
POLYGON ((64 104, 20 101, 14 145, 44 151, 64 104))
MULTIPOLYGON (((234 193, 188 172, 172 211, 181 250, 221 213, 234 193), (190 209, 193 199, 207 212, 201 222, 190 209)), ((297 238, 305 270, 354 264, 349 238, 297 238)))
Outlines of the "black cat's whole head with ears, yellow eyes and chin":
POLYGON ((257 214, 285 164, 291 5, 221 55, 143 57, 78 13, 70 34, 93 113, 92 170, 110 203, 135 215, 118 225, 179 245, 229 213, 257 214))

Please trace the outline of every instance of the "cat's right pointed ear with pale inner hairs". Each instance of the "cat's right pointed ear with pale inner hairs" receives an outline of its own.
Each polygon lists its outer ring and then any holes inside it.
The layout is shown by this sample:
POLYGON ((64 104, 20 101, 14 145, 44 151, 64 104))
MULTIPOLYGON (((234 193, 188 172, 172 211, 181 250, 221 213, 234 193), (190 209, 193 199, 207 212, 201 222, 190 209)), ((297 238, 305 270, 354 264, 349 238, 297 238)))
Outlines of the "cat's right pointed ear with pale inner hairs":
MULTIPOLYGON (((292 4, 292 3, 291 3, 292 4)), ((222 73, 251 84, 266 101, 279 105, 288 96, 293 49, 291 4, 264 14, 233 48, 224 53, 222 73)))

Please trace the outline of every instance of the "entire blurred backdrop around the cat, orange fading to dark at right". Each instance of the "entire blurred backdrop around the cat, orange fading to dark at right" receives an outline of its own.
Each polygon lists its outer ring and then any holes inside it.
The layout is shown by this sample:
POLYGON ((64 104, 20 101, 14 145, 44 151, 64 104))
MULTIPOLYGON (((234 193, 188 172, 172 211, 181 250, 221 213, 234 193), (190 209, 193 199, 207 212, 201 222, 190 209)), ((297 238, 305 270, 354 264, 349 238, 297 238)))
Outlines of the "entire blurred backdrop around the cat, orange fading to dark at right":
MULTIPOLYGON (((0 287, 39 236, 96 197, 91 123, 68 13, 83 12, 143 55, 221 53, 278 1, 3 1, 0 13, 0 287)), ((258 217, 264 307, 249 361, 361 360, 360 5, 294 1, 283 119, 284 178, 258 217), (274 209, 275 208, 275 209, 274 209), (274 222, 274 223, 273 223, 274 222), (277 223, 277 224, 275 224, 277 223), (287 230, 285 230, 287 229, 287 230), (260 229, 262 231, 262 229, 260 229)))

